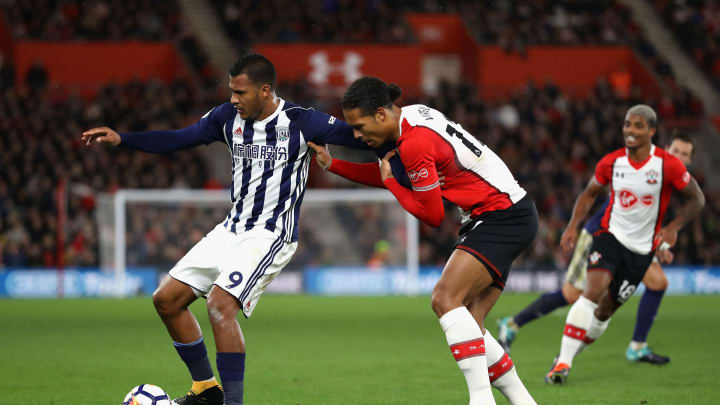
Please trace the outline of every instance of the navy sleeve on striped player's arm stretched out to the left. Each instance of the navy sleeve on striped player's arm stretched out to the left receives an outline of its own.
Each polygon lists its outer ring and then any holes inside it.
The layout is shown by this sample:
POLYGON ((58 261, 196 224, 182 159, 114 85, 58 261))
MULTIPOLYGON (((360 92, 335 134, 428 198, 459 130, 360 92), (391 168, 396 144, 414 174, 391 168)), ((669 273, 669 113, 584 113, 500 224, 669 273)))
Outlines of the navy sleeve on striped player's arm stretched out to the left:
POLYGON ((232 114, 235 114, 232 104, 225 103, 182 129, 120 133, 120 144, 143 152, 169 153, 213 142, 227 143, 222 127, 232 114))

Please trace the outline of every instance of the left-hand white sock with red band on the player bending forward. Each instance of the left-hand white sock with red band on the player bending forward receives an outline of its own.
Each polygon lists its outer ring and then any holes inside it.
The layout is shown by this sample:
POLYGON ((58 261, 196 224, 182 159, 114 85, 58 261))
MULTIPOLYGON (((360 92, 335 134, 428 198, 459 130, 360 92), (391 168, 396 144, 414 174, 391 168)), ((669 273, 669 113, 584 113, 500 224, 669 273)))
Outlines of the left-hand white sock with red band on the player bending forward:
POLYGON ((467 308, 458 307, 440 317, 440 326, 460 371, 465 375, 470 405, 495 405, 488 377, 485 342, 475 318, 467 308))

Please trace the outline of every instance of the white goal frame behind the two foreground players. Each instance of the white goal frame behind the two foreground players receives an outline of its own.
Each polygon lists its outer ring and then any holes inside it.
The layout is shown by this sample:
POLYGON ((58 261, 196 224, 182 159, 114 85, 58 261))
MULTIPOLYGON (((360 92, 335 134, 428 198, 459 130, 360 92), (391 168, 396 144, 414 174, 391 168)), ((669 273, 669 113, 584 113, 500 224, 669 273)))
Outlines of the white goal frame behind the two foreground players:
MULTIPOLYGON (((380 189, 308 189, 305 191, 301 212, 313 203, 394 203, 395 197, 387 190, 380 189)), ((151 203, 153 205, 177 204, 222 204, 229 209, 230 195, 227 190, 192 190, 192 189, 121 189, 113 194, 100 197, 98 207, 99 238, 101 245, 101 267, 115 274, 118 285, 123 286, 127 269, 127 223, 128 204, 151 203), (110 219, 112 218, 112 222, 110 219), (112 231, 110 231, 112 230, 112 231)), ((399 207, 399 205, 398 205, 399 207)), ((407 293, 418 292, 419 275, 419 223, 410 213, 405 212, 405 236, 408 285, 407 293)), ((222 218, 217 218, 219 222, 222 218)), ((300 222, 303 228, 305 218, 300 222)), ((215 223, 217 223, 215 222, 215 223)), ((207 224, 208 231, 215 223, 207 224)), ((356 232, 347 229, 346 232, 356 232)), ((302 243, 302 238, 300 240, 302 243)), ((123 289, 119 289, 122 291, 123 289)))

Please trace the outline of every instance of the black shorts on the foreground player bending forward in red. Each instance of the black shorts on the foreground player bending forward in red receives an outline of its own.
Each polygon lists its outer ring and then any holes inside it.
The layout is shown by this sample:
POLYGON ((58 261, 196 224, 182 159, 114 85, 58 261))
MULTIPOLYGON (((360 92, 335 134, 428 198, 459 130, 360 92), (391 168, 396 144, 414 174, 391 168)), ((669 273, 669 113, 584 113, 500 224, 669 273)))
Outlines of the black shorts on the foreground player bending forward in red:
POLYGON ((492 286, 502 291, 513 260, 535 240, 537 228, 535 203, 525 196, 510 208, 480 214, 465 224, 455 249, 475 256, 492 276, 492 286))

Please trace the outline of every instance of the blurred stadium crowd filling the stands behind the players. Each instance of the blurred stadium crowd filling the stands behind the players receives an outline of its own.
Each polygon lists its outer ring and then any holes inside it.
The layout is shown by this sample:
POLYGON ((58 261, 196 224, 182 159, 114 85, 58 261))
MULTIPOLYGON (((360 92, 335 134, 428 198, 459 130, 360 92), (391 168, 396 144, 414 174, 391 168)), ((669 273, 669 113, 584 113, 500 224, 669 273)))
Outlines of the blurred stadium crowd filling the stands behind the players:
MULTIPOLYGON (((678 14, 693 12, 709 16, 707 21, 716 19, 711 18, 717 13, 710 6, 694 6, 693 2, 683 7, 670 1, 656 3, 664 7, 662 10, 676 10, 670 15, 678 21, 681 20, 678 14), (684 11, 678 12, 679 8, 684 11)), ((410 42, 413 37, 401 11, 459 12, 476 40, 497 43, 513 52, 523 52, 525 46, 531 44, 630 41, 659 76, 672 81, 667 64, 642 38, 626 10, 612 1, 317 0, 301 6, 300 2, 213 0, 212 4, 240 49, 258 41, 327 41, 328 38, 343 43, 410 42), (274 13, 281 8, 282 13, 274 13), (277 15, 282 16, 281 20, 275 21, 277 15), (343 30, 348 25, 356 29, 343 30)), ((200 76, 207 82, 216 82, 216 74, 209 68, 204 51, 183 28, 182 16, 174 1, 103 0, 85 5, 79 0, 0 0, 0 9, 6 19, 13 21, 10 27, 16 38, 175 41, 200 76)), ((714 33, 713 24, 701 25, 710 27, 706 32, 714 33)), ((688 43, 694 43, 691 39, 692 35, 688 36, 688 43)), ((49 88, 49 78, 41 64, 27 72, 23 83, 15 83, 14 73, 8 59, 0 57, 0 150, 3 151, 0 154, 0 268, 58 264, 55 191, 61 180, 68 190, 67 245, 63 251, 64 263, 68 266, 99 264, 97 193, 118 188, 219 186, 197 150, 171 157, 123 148, 96 148, 87 153, 77 138, 83 129, 97 125, 118 130, 178 128, 223 99, 208 99, 206 92, 198 94, 185 80, 171 84, 109 85, 95 98, 83 99, 62 88, 49 88)), ((661 118, 660 137, 656 139, 659 144, 669 139, 668 126, 681 124, 692 130, 693 123, 702 116, 702 106, 688 91, 676 86, 667 88, 660 99, 647 100, 638 89, 620 94, 608 81, 601 80, 595 92, 583 99, 563 94, 552 83, 529 83, 522 92, 506 99, 483 101, 475 96, 477 92, 470 84, 444 83, 435 96, 404 101, 425 103, 445 112, 501 155, 533 196, 541 214, 537 241, 517 265, 561 269, 567 257, 557 242, 572 202, 590 178, 597 159, 620 146, 619 134, 627 107, 646 102, 657 109, 661 118)), ((285 84, 278 90, 278 94, 288 100, 341 116, 337 99, 315 97, 312 93, 303 83, 285 84)), ((702 181, 703 173, 695 175, 702 181)), ((349 186, 317 167, 313 168, 310 184, 349 186)), ((720 240, 720 198, 708 197, 704 220, 696 221, 680 234, 675 249, 677 263, 720 262, 720 246, 710 243, 720 240)), ((226 214, 224 207, 133 209, 135 214, 131 215, 127 230, 128 264, 164 269, 172 266, 226 214)), ((388 235, 384 243, 377 243, 380 237, 377 232, 355 233, 353 242, 363 261, 397 264, 397 260, 401 260, 398 255, 387 252, 398 249, 403 231, 384 229, 382 215, 363 208, 336 207, 334 211, 348 229, 382 230, 383 235, 388 235), (374 218, 374 222, 370 218, 374 218), (371 226, 367 226, 370 222, 371 226)), ((439 228, 421 228, 423 264, 444 263, 456 240, 457 218, 447 215, 439 228)), ((402 227, 402 222, 397 226, 402 227)), ((301 227, 301 244, 291 267, 332 264, 332 254, 326 252, 317 232, 310 226, 301 227)))

